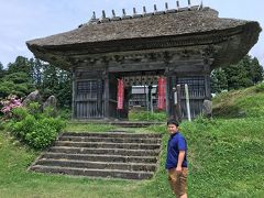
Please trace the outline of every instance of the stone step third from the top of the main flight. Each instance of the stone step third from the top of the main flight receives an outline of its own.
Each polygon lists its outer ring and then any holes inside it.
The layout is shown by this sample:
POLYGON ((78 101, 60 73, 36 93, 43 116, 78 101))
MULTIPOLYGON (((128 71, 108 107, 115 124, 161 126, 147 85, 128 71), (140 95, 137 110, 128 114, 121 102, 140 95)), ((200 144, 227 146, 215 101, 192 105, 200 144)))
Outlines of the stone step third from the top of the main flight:
POLYGON ((108 143, 108 142, 72 142, 56 141, 55 146, 92 147, 92 148, 128 148, 128 150, 157 150, 160 144, 108 143))

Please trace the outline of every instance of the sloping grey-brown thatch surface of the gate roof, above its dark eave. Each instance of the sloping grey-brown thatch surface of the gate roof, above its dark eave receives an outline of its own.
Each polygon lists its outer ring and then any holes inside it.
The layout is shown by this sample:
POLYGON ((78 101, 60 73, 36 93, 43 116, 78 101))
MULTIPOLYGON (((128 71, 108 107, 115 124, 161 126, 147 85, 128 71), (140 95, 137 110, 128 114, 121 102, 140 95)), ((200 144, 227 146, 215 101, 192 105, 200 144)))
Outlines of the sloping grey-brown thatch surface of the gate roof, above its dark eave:
POLYGON ((72 45, 136 37, 183 35, 232 29, 249 21, 219 19, 216 10, 183 11, 107 23, 87 23, 79 29, 26 42, 29 46, 72 45))

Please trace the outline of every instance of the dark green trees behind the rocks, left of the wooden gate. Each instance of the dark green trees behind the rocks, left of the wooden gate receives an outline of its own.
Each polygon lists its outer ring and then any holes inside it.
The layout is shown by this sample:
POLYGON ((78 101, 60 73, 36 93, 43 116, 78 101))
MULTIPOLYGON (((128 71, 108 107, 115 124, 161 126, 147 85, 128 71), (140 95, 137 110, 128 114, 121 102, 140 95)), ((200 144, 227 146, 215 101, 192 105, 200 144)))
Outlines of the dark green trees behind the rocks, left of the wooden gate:
POLYGON ((0 98, 9 95, 25 97, 38 89, 46 100, 51 95, 61 107, 70 107, 72 75, 37 58, 18 56, 4 70, 0 64, 0 98))

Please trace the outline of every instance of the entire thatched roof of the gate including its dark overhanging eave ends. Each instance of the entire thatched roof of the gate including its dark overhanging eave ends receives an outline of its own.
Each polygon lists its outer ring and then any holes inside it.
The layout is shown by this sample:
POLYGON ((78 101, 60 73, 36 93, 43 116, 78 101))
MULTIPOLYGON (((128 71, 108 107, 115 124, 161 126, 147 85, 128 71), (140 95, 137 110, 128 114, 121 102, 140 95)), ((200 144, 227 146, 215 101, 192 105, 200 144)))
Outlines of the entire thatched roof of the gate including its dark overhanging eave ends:
POLYGON ((257 22, 221 19, 216 10, 204 8, 99 24, 90 22, 66 33, 29 41, 26 45, 36 57, 70 67, 65 58, 74 55, 220 44, 235 36, 240 42, 230 42, 230 52, 223 50, 215 57, 217 67, 242 58, 257 42, 260 32, 257 22), (227 53, 232 53, 232 57, 227 53))

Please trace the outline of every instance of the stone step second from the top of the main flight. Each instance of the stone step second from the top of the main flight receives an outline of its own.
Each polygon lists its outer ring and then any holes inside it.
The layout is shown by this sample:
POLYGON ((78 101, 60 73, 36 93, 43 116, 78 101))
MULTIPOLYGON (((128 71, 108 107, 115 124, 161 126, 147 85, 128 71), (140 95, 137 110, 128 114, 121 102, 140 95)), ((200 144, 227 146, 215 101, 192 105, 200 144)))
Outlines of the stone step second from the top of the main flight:
POLYGON ((112 142, 112 143, 145 143, 145 144, 161 144, 161 139, 154 138, 102 138, 102 136, 59 136, 58 141, 73 141, 73 142, 112 142))

